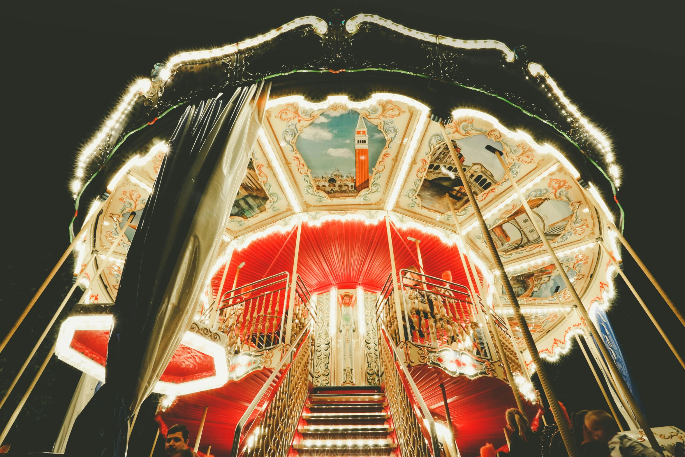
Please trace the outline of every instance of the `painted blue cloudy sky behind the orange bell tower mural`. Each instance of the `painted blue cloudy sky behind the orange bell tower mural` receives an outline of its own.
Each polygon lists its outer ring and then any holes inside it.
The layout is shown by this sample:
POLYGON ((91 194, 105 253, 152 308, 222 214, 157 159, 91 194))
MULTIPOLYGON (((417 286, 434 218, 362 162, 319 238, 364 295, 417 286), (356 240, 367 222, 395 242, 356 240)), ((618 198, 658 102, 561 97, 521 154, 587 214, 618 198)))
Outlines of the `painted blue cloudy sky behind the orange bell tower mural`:
MULTIPOLYGON (((325 111, 313 123, 302 130, 295 145, 312 176, 340 169, 343 175, 355 174, 354 134, 359 121, 355 110, 325 111)), ((376 166, 386 140, 378 127, 364 119, 369 134, 369 176, 376 166)))

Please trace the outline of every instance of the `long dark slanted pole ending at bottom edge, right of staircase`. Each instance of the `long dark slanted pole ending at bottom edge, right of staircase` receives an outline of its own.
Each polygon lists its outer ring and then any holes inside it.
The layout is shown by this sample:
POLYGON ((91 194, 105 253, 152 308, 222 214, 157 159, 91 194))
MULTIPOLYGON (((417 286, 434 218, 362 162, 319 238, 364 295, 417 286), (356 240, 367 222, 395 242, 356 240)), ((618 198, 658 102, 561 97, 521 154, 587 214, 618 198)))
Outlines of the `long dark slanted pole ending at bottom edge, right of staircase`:
POLYGON ((497 252, 495 242, 493 241, 493 238, 490 235, 490 230, 488 230, 488 225, 486 225, 485 220, 483 219, 483 214, 480 212, 478 203, 475 199, 475 196, 473 195, 473 190, 471 190, 471 185, 469 184, 469 181, 466 180, 466 173, 464 173, 464 169, 462 168, 462 162, 457 157, 457 153, 454 150, 452 141, 449 138, 447 130, 445 129, 445 125, 442 121, 440 121, 440 129, 442 129, 443 131, 443 137, 447 141, 447 147, 449 148, 449 153, 451 154, 452 160, 454 161, 455 168, 459 172, 459 176, 462 180, 462 186, 464 186, 464 190, 466 190, 466 195, 469 197, 469 201, 471 202, 471 208, 473 208, 473 212, 475 213, 475 216, 478 219, 480 229, 482 230, 488 248, 490 249, 490 255, 493 257, 493 261, 497 265, 497 270, 501 272, 502 283, 509 297, 509 301, 512 304, 512 308, 514 308, 514 316, 516 317, 516 321, 519 322, 519 327, 521 327, 521 332, 523 333, 523 339, 525 341, 525 344, 528 347, 528 351, 530 352, 530 355, 533 358, 533 362, 535 363, 535 367, 538 371, 538 378, 540 379, 540 384, 543 385, 543 390, 545 391, 545 395, 547 396, 547 400, 549 401, 549 407, 552 410, 554 419, 559 424, 559 431, 561 432, 562 439, 564 440, 566 451, 569 453, 569 457, 580 457, 578 449, 575 447, 575 441, 573 439, 573 435, 571 434, 571 430, 569 430, 568 427, 564 426, 566 424, 566 419, 564 418, 562 410, 559 406, 559 401, 557 399, 556 392, 554 391, 554 388, 551 385, 543 360, 542 358, 540 358, 540 354, 538 353, 535 341, 533 340, 533 335, 530 333, 528 324, 526 323, 525 318, 523 317, 523 313, 521 312, 521 306, 519 305, 518 299, 516 299, 516 293, 514 293, 514 288, 512 288, 512 285, 509 282, 509 278, 507 277, 504 271, 504 265, 502 264, 501 258, 499 258, 499 253, 497 252))

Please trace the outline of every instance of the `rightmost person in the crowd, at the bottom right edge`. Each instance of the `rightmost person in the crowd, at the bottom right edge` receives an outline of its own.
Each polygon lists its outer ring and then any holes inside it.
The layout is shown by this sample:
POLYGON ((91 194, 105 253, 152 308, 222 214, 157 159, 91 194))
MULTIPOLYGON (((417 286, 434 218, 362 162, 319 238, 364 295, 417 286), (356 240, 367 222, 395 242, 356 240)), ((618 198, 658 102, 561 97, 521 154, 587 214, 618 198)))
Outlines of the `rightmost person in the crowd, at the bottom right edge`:
POLYGON ((588 430, 588 435, 594 441, 608 445, 611 457, 661 457, 661 454, 651 447, 619 433, 619 426, 606 411, 588 411, 584 425, 588 430))

